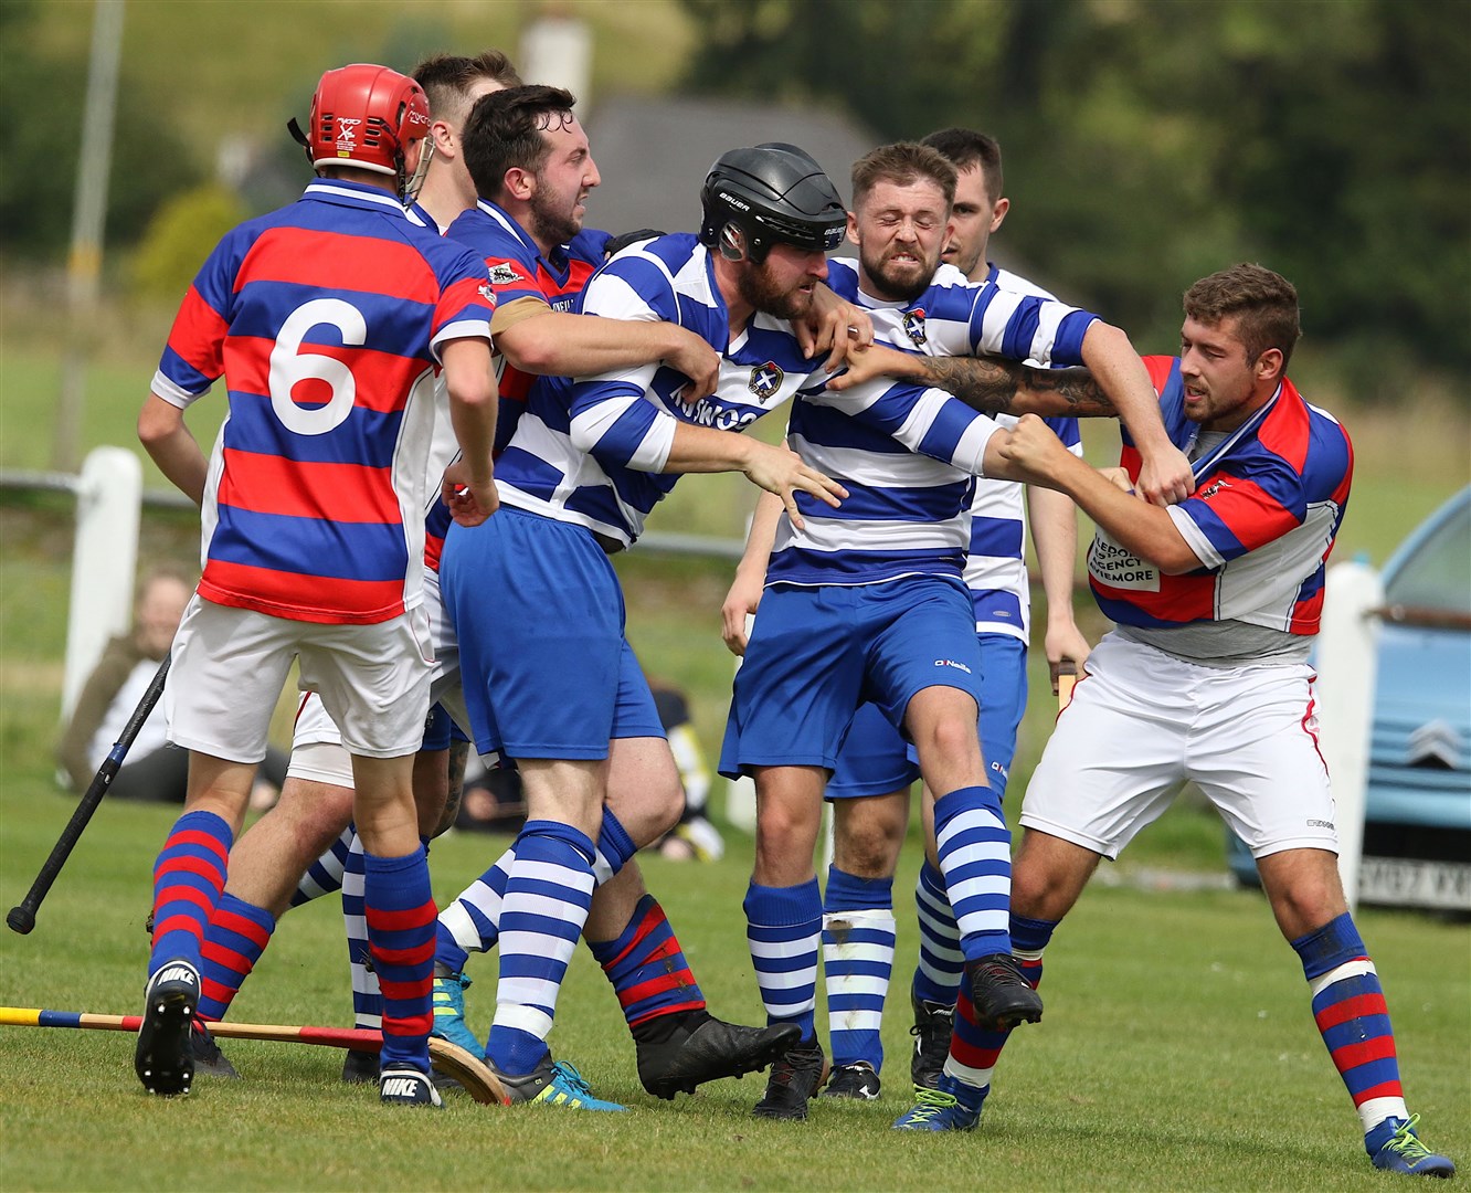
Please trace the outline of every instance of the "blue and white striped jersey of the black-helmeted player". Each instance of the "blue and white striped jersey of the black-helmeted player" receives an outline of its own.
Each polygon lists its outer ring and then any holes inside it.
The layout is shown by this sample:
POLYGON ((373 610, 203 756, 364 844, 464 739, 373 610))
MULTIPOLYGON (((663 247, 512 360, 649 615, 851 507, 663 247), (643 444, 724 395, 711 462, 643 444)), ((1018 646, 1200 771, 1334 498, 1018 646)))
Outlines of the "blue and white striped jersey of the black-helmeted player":
POLYGON ((730 340, 725 300, 709 253, 680 232, 627 249, 583 291, 580 310, 615 319, 668 321, 722 353, 716 393, 688 402, 688 380, 663 365, 600 377, 538 378, 527 412, 496 462, 500 499, 609 535, 624 546, 678 480, 662 474, 677 422, 744 431, 821 385, 821 362, 802 356, 787 322, 756 315, 730 340), (815 371, 815 372, 813 372, 815 371))

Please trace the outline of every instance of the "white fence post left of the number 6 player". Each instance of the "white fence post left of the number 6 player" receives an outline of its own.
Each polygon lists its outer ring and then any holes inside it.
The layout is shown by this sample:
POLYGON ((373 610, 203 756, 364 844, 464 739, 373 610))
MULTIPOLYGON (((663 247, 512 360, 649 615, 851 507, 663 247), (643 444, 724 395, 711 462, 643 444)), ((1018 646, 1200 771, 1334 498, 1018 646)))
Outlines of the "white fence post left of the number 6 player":
POLYGON ((97 447, 82 460, 76 485, 72 597, 66 618, 62 719, 72 715, 107 640, 132 625, 138 571, 143 466, 122 447, 97 447))

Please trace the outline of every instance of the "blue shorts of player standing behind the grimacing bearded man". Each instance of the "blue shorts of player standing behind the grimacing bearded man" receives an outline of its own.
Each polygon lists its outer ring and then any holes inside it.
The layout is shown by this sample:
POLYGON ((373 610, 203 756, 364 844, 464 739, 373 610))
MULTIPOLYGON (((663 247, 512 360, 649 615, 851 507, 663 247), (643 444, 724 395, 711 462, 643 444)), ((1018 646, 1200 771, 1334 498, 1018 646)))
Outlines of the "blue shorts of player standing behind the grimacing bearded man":
MULTIPOLYGON (((1011 634, 978 634, 981 647, 981 753, 997 799, 1006 794, 1016 728, 1027 708, 1027 644, 1011 634)), ((853 716, 837 769, 828 780, 828 799, 859 799, 902 791, 919 778, 913 746, 888 722, 877 705, 863 705, 853 716)))

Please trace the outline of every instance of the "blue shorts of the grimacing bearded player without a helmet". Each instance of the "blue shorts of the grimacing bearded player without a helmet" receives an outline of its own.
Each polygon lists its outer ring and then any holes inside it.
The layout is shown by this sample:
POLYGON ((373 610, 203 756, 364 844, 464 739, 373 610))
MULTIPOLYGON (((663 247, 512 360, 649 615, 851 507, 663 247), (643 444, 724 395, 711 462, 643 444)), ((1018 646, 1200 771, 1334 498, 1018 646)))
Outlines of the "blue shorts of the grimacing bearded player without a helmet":
POLYGON ((961 688, 980 706, 980 672, 975 616, 959 580, 768 588, 736 672, 721 774, 831 771, 863 702, 890 724, 902 724, 927 687, 961 688))

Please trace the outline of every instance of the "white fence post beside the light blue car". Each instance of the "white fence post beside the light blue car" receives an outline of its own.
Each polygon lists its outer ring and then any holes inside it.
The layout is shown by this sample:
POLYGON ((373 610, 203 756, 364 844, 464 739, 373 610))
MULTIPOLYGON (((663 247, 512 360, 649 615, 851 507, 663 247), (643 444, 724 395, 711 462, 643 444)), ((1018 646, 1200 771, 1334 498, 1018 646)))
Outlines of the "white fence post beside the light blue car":
POLYGON ((1318 634, 1318 715, 1322 758, 1333 780, 1339 830, 1339 875, 1352 909, 1359 897, 1364 856, 1364 797, 1374 734, 1374 684, 1384 585, 1368 563, 1328 569, 1318 634))

